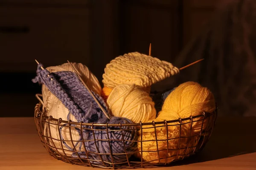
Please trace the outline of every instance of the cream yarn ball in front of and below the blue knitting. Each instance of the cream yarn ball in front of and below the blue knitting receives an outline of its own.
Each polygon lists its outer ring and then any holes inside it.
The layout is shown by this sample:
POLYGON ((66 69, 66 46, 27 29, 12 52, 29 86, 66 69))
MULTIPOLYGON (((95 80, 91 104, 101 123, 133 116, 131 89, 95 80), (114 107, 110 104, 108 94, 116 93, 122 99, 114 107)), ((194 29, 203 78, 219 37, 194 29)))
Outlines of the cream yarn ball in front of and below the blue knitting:
MULTIPOLYGON (((72 114, 69 114, 68 109, 65 108, 59 99, 56 99, 55 104, 52 106, 50 111, 46 112, 46 115, 52 116, 55 119, 61 118, 62 120, 71 120, 72 122, 77 122, 76 118, 72 114)), ((47 122, 44 124, 44 135, 48 137, 46 141, 50 145, 50 148, 63 156, 71 156, 74 150, 71 139, 73 141, 81 140, 79 131, 77 131, 75 127, 71 127, 72 136, 70 136, 70 129, 64 123, 60 123, 60 129, 57 125, 58 122, 51 121, 50 123, 51 124, 49 125, 47 122), (61 136, 59 135, 59 131, 61 136), (64 151, 61 148, 61 139, 65 141, 62 143, 64 151)), ((79 150, 80 144, 76 144, 76 142, 73 143, 75 144, 76 150, 79 150)), ((80 150, 84 150, 83 145, 81 145, 80 150)))

